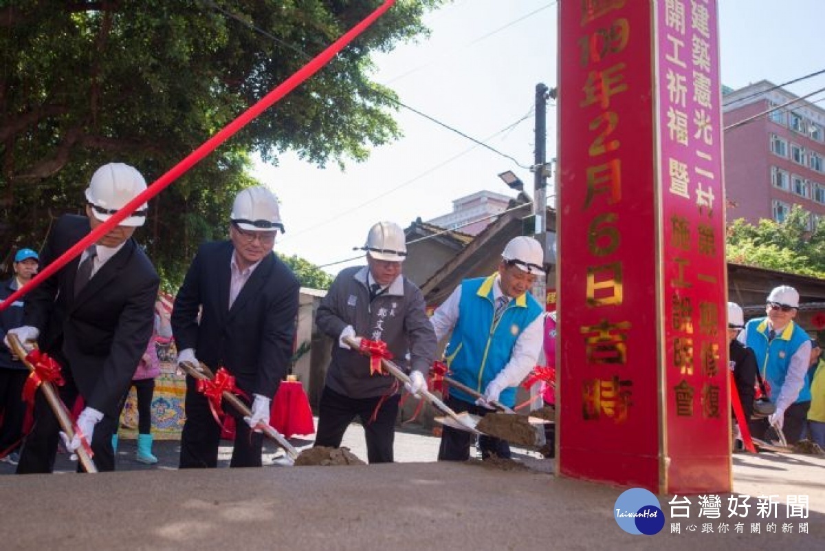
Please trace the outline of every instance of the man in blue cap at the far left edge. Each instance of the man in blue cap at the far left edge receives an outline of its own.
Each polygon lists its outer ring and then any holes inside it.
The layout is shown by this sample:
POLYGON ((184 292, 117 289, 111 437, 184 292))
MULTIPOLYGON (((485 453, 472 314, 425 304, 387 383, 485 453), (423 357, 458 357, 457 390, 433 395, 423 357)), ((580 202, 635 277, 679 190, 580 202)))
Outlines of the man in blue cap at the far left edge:
MULTIPOLYGON (((14 256, 14 276, 3 281, 0 285, 0 300, 20 289, 37 273, 40 258, 31 249, 20 249, 14 256)), ((24 301, 17 300, 9 308, 0 313, 0 331, 3 337, 6 332, 23 324, 24 301)), ((29 370, 20 360, 12 355, 6 346, 0 346, 0 461, 17 464, 20 455, 17 452, 22 438, 23 417, 26 415, 26 406, 23 403, 23 384, 29 370)))

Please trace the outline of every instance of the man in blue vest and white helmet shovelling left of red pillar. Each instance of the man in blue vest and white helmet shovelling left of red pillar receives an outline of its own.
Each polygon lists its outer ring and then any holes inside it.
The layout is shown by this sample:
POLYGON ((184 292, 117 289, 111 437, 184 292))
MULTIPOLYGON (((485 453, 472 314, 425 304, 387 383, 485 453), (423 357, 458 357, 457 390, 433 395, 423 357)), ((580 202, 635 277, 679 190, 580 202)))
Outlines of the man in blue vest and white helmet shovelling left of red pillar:
MULTIPOLYGON (((452 378, 484 396, 477 401, 450 389, 446 404, 456 412, 483 416, 493 409, 489 402, 515 405, 515 387, 535 367, 543 344, 544 308, 528 291, 536 278, 545 276, 541 244, 513 238, 496 273, 462 281, 436 309, 431 322, 438 340, 452 332, 445 351, 452 378)), ((469 459, 470 436, 445 426, 438 459, 469 459)), ((483 459, 510 457, 507 442, 490 436, 479 437, 479 449, 483 459)))

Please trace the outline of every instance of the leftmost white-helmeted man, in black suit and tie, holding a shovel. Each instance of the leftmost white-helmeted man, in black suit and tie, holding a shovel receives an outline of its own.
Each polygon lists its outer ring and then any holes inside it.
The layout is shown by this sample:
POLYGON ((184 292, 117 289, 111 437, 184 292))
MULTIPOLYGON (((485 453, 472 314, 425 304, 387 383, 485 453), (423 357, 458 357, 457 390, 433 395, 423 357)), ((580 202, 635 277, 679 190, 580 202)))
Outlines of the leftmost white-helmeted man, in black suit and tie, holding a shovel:
MULTIPOLYGON (((49 233, 40 260, 49 266, 92 229, 103 224, 146 189, 134 167, 111 162, 94 173, 86 190, 86 216, 64 214, 49 233)), ((135 228, 146 220, 146 205, 88 247, 82 255, 28 295, 21 341, 37 340, 63 366, 60 398, 72 407, 78 395, 84 409, 72 440, 61 433, 69 451, 91 443, 100 471, 115 469, 112 435, 120 402, 129 389, 146 343, 152 336, 154 300, 160 279, 138 243, 135 228)), ((17 473, 50 473, 54 468, 59 426, 37 393, 35 425, 17 465, 17 473)))

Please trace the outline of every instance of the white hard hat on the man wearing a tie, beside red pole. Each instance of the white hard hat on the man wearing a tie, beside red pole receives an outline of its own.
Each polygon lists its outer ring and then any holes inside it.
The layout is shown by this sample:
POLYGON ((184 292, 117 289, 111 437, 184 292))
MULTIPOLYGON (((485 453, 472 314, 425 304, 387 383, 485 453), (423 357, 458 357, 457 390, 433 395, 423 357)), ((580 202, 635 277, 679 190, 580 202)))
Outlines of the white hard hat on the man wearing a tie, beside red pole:
MULTIPOLYGON (((98 168, 92 175, 92 181, 89 181, 86 189, 86 200, 92 206, 95 218, 105 222, 145 189, 146 181, 136 168, 122 162, 110 162, 98 168)), ((140 205, 140 208, 120 222, 120 225, 144 225, 147 210, 146 203, 140 205)))

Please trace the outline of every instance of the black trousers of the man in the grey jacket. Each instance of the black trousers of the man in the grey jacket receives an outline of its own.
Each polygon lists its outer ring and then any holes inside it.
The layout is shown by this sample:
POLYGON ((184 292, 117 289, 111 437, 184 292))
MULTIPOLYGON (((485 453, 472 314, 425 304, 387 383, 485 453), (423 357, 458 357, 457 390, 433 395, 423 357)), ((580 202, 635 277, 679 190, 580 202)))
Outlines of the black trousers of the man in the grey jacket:
POLYGON ((375 421, 370 421, 375 407, 378 407, 381 400, 380 396, 349 398, 325 386, 318 404, 318 431, 315 434, 314 445, 340 447, 347 426, 359 417, 361 426, 364 426, 366 455, 369 462, 392 463, 395 419, 398 417, 400 399, 399 394, 386 398, 375 416, 375 421))

